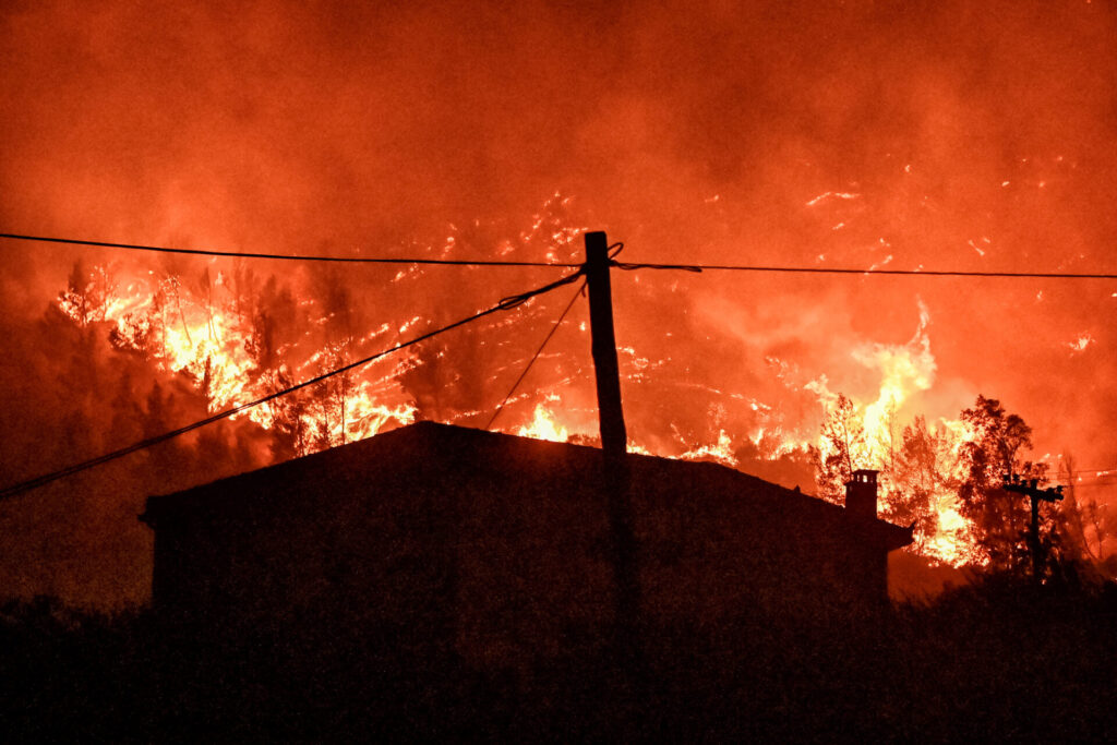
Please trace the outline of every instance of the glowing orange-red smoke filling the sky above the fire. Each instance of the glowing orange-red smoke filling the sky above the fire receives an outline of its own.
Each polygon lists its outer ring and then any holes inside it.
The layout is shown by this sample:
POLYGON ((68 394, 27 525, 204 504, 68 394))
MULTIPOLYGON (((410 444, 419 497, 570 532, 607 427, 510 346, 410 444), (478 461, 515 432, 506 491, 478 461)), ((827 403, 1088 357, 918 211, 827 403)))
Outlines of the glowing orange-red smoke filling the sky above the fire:
MULTIPOLYGON (((1104 2, 6 3, 0 225, 274 252, 525 259, 576 257, 576 240, 554 236, 591 228, 623 240, 630 261, 1113 271, 1115 38, 1104 2)), ((150 411, 156 382, 180 402, 168 420, 189 420, 200 405, 189 385, 92 332, 75 337, 48 306, 78 257, 130 276, 231 274, 229 264, 10 242, 3 256, 6 481, 82 448, 96 455, 114 417, 150 411), (95 375, 74 362, 78 347, 95 375), (117 397, 125 379, 133 395, 117 397), (58 445, 78 430, 88 441, 58 445)), ((276 328, 289 337, 276 343, 299 345, 293 363, 342 334, 338 314, 359 334, 417 317, 438 325, 550 277, 251 271, 257 311, 288 313, 276 328), (304 333, 331 313, 325 329, 304 333)), ((985 393, 1024 417, 1040 453, 1117 465, 1106 437, 1114 283, 634 273, 618 275, 614 293, 618 340, 631 350, 621 355, 630 431, 655 451, 713 447, 725 430, 742 467, 757 470, 773 455, 766 441, 817 431, 811 381, 876 399, 879 372, 858 354, 905 345, 922 300, 935 378, 913 411, 956 417, 985 393)), ((404 393, 450 381, 439 405, 481 412, 460 419, 481 426, 565 302, 535 303, 522 327, 448 336, 442 357, 420 352, 441 372, 412 373, 404 393)), ((524 390, 561 390, 567 426, 589 427, 580 313, 524 390)), ((500 426, 522 426, 536 400, 516 397, 500 426)), ((245 447, 222 468, 265 458, 259 442, 245 447)), ((193 472, 182 467, 173 483, 193 472)), ((116 502, 108 487, 98 494, 120 517, 145 490, 172 488, 137 484, 116 502)), ((67 514, 79 491, 22 497, 3 519, 46 535, 48 515, 67 514)), ((75 543, 76 518, 63 522, 66 536, 6 550, 3 563, 47 566, 54 591, 94 598, 79 562, 57 557, 97 547, 75 543), (68 577, 61 590, 57 577, 68 577)), ((141 585, 113 596, 142 596, 141 585)))

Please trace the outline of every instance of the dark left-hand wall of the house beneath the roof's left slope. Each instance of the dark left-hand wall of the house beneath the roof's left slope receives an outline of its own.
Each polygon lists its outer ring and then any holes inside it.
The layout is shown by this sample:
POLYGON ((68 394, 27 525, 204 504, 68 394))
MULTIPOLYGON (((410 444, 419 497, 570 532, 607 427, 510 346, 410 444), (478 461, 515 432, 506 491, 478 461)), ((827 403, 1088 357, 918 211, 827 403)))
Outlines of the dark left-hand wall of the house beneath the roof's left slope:
POLYGON ((161 520, 156 608, 210 625, 315 633, 445 629, 447 603, 436 600, 451 575, 445 520, 432 518, 420 477, 273 486, 262 499, 220 495, 235 509, 161 520))

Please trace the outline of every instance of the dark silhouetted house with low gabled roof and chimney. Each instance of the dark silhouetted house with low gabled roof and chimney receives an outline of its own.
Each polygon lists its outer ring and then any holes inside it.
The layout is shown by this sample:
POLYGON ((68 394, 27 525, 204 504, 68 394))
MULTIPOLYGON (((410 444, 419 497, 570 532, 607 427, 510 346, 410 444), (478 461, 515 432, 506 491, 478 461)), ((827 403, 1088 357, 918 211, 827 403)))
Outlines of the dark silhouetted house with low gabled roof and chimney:
MULTIPOLYGON (((715 464, 628 466, 655 622, 884 603, 888 552, 911 542, 877 518, 872 471, 842 508, 715 464)), ((595 448, 421 422, 153 496, 153 604, 210 624, 391 627, 481 662, 556 652, 613 613, 602 468, 595 448)))

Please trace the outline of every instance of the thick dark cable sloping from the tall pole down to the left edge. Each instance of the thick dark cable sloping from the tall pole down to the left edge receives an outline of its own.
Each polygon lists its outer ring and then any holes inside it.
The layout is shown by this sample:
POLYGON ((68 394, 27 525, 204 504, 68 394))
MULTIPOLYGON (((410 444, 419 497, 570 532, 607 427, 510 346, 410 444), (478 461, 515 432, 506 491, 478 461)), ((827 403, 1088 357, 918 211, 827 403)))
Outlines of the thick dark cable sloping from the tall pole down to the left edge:
POLYGON ((105 455, 98 456, 97 458, 90 458, 89 460, 85 460, 85 461, 82 461, 79 464, 74 464, 71 466, 67 466, 66 468, 61 468, 59 470, 51 471, 49 474, 44 474, 41 476, 37 476, 37 477, 28 479, 26 481, 20 481, 19 484, 13 484, 11 486, 4 487, 3 489, 0 489, 0 499, 6 499, 8 497, 16 496, 17 494, 21 494, 23 491, 29 491, 31 489, 36 489, 36 488, 38 488, 40 486, 45 486, 47 484, 50 484, 51 481, 57 481, 60 478, 65 478, 67 476, 73 476, 75 474, 78 474, 80 471, 87 470, 89 468, 94 468, 96 466, 101 466, 103 464, 107 464, 107 462, 109 462, 112 460, 116 460, 118 458, 123 458, 124 456, 131 455, 131 453, 136 452, 139 450, 143 450, 145 448, 150 448, 150 447, 159 445, 161 442, 165 442, 165 441, 171 440, 171 439, 173 439, 175 437, 179 437, 180 434, 185 434, 187 432, 191 432, 191 431, 193 431, 195 429, 199 429, 201 427, 206 427, 207 424, 212 424, 213 422, 220 421, 222 419, 227 419, 229 417, 232 417, 233 414, 238 414, 241 411, 246 411, 246 410, 251 409, 254 407, 258 407, 261 403, 267 403, 268 401, 274 401, 275 399, 278 399, 279 397, 287 395, 288 393, 294 393, 295 391, 298 391, 300 389, 307 388, 309 385, 314 385, 316 383, 321 383, 322 381, 324 381, 324 380, 326 380, 328 378, 333 378, 334 375, 340 375, 341 373, 349 372, 350 370, 353 370, 354 367, 360 367, 362 365, 369 364, 370 362, 379 360, 380 357, 383 357, 383 356, 386 356, 389 354, 392 354, 393 352, 399 352, 402 348, 405 348, 405 347, 411 346, 413 344, 418 344, 419 342, 426 341, 426 340, 428 340, 428 338, 430 338, 432 336, 437 336, 438 334, 442 334, 442 333, 448 332, 448 331, 450 331, 452 328, 457 328, 458 326, 464 326, 464 325, 466 325, 468 323, 472 323, 474 321, 477 321, 479 318, 484 318, 485 316, 491 315, 494 313, 498 313, 500 311, 510 311, 512 308, 515 308, 515 307, 518 307, 518 306, 523 305, 524 303, 526 303, 527 300, 532 299, 533 297, 535 297, 537 295, 543 295, 544 293, 550 293, 551 290, 557 289, 558 287, 562 287, 563 285, 569 285, 569 284, 571 284, 573 281, 576 281, 580 276, 582 276, 582 271, 581 270, 575 271, 574 274, 571 274, 571 275, 567 275, 567 276, 563 277, 562 279, 557 279, 557 280, 555 280, 553 283, 550 283, 547 285, 538 287, 536 289, 532 289, 532 290, 528 290, 526 293, 521 293, 519 295, 512 295, 509 297, 505 297, 504 299, 502 299, 499 303, 497 303, 496 305, 494 305, 490 308, 487 308, 485 311, 480 311, 478 313, 475 313, 471 316, 467 316, 465 318, 461 318, 460 321, 456 321, 456 322, 454 322, 451 324, 442 326, 441 328, 436 328, 435 331, 430 331, 430 332, 427 332, 424 334, 420 334, 419 336, 416 336, 414 338, 408 340, 407 342, 401 342, 401 343, 397 344, 393 347, 390 347, 388 350, 383 350, 381 352, 378 352, 376 354, 369 355, 366 357, 357 360, 356 362, 351 362, 351 363, 349 363, 349 364, 346 364, 346 365, 344 365, 342 367, 337 367, 335 370, 331 370, 330 372, 326 372, 326 373, 323 373, 323 374, 317 375, 315 378, 312 378, 309 380, 303 381, 302 383, 297 383, 297 384, 292 385, 289 388, 285 388, 281 391, 276 391, 275 393, 269 393, 268 395, 265 395, 262 398, 256 399, 255 401, 249 401, 247 403, 241 403, 239 405, 232 407, 231 409, 226 409, 225 411, 221 411, 221 412, 218 412, 218 413, 212 414, 210 417, 207 417, 206 419, 201 419, 199 421, 192 422, 190 424, 187 424, 185 427, 180 427, 179 429, 171 430, 170 432, 163 432, 162 434, 156 434, 155 437, 150 437, 150 438, 146 438, 144 440, 140 440, 139 442, 133 442, 132 445, 130 445, 127 447, 121 448, 120 450, 114 450, 112 452, 106 452, 105 455))

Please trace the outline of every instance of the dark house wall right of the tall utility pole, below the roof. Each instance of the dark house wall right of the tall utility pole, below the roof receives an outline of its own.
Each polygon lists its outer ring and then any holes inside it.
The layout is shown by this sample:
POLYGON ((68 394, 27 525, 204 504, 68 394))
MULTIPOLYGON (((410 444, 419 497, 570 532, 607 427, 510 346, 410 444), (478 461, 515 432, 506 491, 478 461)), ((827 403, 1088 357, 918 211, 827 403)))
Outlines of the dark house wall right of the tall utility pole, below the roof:
POLYGON ((636 503, 641 581, 657 615, 817 614, 887 599, 887 552, 851 536, 839 512, 656 487, 636 503))

